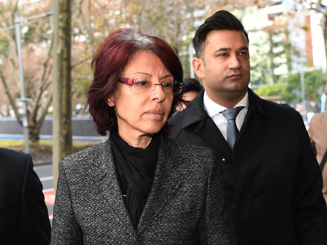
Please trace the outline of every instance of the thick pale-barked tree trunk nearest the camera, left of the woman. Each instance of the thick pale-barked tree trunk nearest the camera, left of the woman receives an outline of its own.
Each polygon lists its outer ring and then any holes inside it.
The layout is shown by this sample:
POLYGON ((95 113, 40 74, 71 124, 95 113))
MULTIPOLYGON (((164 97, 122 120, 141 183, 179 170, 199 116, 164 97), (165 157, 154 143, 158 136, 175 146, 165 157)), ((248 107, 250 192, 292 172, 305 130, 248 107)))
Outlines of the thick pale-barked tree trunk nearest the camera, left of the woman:
POLYGON ((53 43, 53 179, 57 187, 59 161, 71 153, 71 1, 54 1, 53 43))

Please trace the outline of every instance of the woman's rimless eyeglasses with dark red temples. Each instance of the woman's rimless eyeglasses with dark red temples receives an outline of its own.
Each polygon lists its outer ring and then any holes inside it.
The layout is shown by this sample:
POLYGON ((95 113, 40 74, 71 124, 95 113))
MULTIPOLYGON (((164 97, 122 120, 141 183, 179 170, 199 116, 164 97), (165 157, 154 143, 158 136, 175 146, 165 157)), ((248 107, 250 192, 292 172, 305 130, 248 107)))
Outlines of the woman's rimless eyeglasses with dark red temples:
POLYGON ((160 85, 166 93, 178 94, 182 92, 183 83, 181 82, 171 82, 163 81, 161 83, 152 83, 143 78, 133 78, 133 77, 121 77, 119 82, 126 83, 129 86, 134 85, 134 88, 138 91, 147 92, 153 90, 157 85, 160 85))

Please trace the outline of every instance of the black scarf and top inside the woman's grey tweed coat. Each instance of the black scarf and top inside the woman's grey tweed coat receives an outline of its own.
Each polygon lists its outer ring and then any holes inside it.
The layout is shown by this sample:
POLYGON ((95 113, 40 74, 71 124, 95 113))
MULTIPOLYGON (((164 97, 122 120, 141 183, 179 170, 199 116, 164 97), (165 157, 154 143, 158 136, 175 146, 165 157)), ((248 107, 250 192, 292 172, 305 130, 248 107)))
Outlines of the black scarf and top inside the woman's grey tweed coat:
POLYGON ((118 135, 117 128, 110 131, 118 181, 135 229, 151 190, 160 139, 156 134, 147 148, 135 148, 118 135))

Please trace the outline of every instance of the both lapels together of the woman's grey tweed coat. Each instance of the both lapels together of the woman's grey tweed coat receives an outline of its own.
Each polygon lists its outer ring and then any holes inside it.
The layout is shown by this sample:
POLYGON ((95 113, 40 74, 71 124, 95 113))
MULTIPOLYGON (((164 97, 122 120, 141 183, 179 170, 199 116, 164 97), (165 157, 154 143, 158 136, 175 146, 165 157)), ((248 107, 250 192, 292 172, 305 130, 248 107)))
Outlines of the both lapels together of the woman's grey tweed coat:
POLYGON ((171 147, 171 140, 162 137, 158 151, 158 162, 154 174, 154 179, 150 194, 145 203, 137 229, 135 231, 129 217, 122 191, 117 178, 114 164, 114 157, 110 140, 102 144, 100 158, 94 159, 93 163, 97 168, 96 183, 100 193, 107 200, 111 211, 115 213, 117 221, 126 228, 130 235, 137 240, 137 234, 142 232, 151 221, 155 219, 157 213, 165 207, 169 200, 174 196, 176 190, 183 180, 183 175, 178 168, 176 156, 171 147), (173 157, 175 156, 175 158, 173 157), (174 158, 174 159, 173 159, 174 158))

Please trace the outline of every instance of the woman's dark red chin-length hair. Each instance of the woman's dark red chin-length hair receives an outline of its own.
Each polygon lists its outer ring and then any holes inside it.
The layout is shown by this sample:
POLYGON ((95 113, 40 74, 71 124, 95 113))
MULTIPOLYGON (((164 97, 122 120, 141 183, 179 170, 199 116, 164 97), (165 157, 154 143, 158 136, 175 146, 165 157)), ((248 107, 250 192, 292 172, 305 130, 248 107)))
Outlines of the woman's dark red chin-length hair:
MULTIPOLYGON (((89 112, 100 135, 106 135, 107 131, 117 123, 115 110, 107 104, 107 100, 114 92, 125 66, 137 51, 149 51, 155 54, 174 79, 183 82, 183 67, 178 52, 169 43, 128 28, 111 33, 100 44, 92 60, 94 78, 87 97, 89 112)), ((175 112, 176 105, 182 101, 182 93, 174 95, 170 115, 175 112)))

